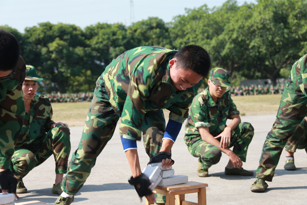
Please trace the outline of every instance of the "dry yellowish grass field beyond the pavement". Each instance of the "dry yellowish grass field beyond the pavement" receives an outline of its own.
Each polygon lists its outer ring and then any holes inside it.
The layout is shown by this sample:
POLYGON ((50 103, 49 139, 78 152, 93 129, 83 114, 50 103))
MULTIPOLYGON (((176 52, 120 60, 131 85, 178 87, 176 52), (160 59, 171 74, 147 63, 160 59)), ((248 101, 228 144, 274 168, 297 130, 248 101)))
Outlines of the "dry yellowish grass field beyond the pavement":
MULTIPOLYGON (((281 95, 257 95, 232 97, 241 116, 276 114, 281 95)), ((53 120, 69 126, 83 126, 91 102, 52 103, 53 120)), ((168 111, 165 110, 168 118, 168 111)))

